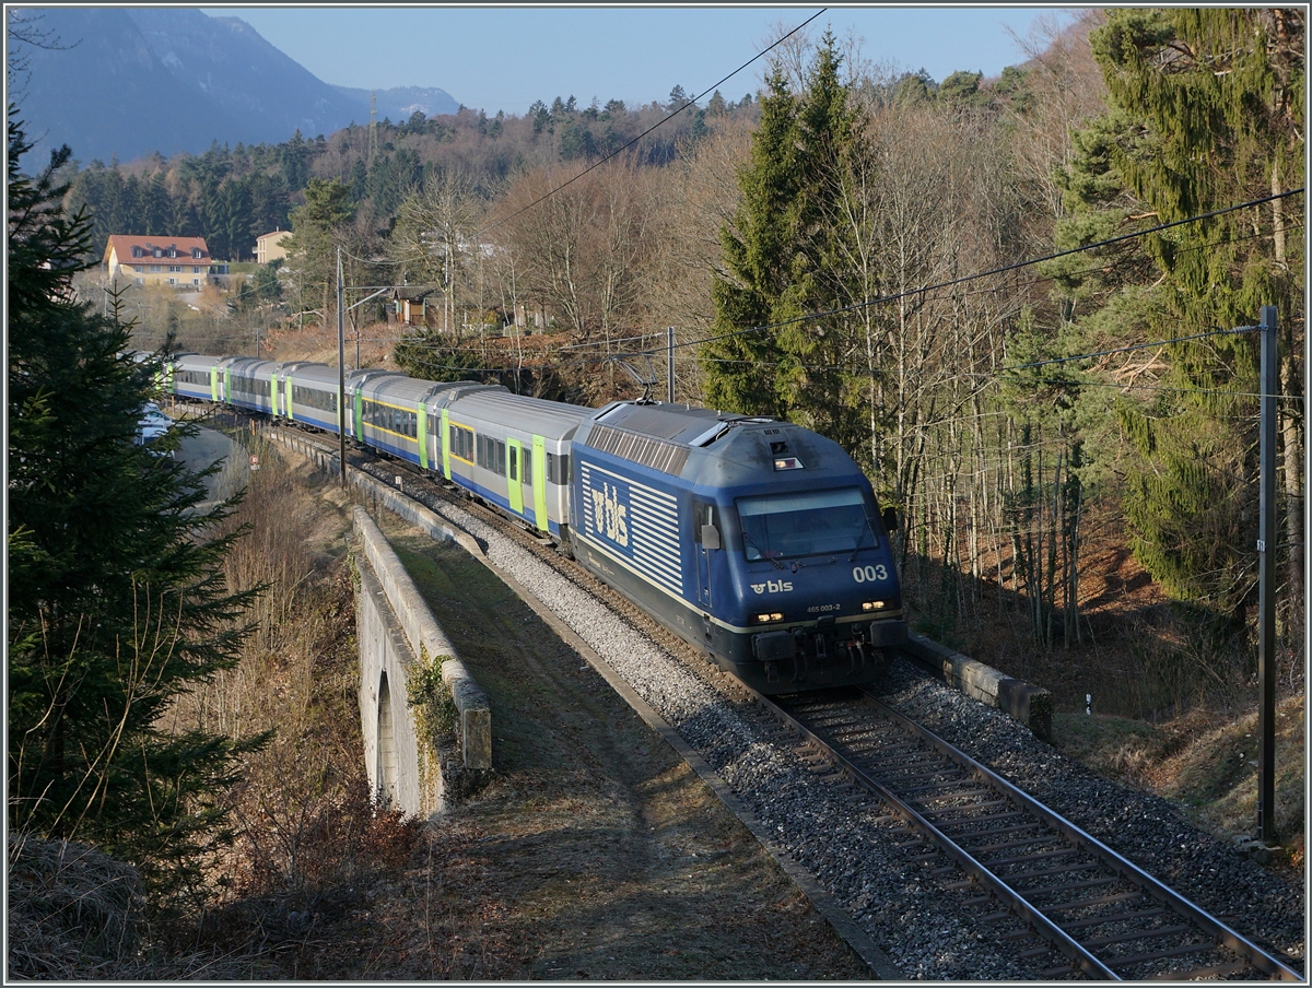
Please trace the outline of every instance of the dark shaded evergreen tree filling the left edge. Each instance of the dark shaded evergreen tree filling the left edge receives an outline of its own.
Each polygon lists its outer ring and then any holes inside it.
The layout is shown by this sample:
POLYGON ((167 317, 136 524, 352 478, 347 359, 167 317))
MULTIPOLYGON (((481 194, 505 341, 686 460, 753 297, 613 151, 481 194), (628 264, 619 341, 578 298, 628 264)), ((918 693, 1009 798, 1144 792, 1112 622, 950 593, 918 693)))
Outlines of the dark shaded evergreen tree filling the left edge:
POLYGON ((91 220, 63 211, 9 109, 8 819, 91 840, 147 875, 178 874, 222 836, 216 792, 262 739, 171 733, 161 715, 232 667, 251 594, 224 589, 232 501, 199 510, 202 475, 134 442, 157 361, 72 293, 91 220))

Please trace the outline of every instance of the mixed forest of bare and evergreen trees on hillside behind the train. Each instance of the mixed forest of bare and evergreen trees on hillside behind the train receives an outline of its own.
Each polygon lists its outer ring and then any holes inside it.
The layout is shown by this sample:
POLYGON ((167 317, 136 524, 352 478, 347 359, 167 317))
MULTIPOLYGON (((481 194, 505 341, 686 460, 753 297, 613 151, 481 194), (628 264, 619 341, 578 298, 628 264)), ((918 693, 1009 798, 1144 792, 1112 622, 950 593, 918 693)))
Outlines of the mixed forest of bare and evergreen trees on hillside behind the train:
POLYGON ((869 471, 943 640, 1006 614, 1039 649, 1094 644, 1086 538, 1115 520, 1174 601, 1122 697, 1157 715, 1252 672, 1257 340, 1232 331, 1265 304, 1302 681, 1303 43, 1300 9, 1089 12, 997 79, 935 81, 798 34, 740 100, 92 163, 70 205, 101 245, 168 230, 232 260, 290 227, 300 321, 336 324, 338 247, 348 285, 430 289, 438 316, 398 341, 415 375, 596 403, 638 394, 622 360, 661 395, 674 327, 678 400, 791 419, 869 471), (489 345, 537 331, 569 349, 489 345))

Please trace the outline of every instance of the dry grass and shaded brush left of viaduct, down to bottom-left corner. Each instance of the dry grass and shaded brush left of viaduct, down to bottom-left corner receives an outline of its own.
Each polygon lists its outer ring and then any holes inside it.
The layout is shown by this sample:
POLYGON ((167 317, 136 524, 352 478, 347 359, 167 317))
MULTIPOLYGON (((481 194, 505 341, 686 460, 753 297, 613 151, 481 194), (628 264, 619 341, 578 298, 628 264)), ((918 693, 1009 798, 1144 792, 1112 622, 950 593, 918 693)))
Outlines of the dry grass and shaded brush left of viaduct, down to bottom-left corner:
MULTIPOLYGON (((273 450, 226 529, 232 589, 265 585, 240 664, 182 698, 161 724, 230 736, 273 730, 219 794, 234 841, 206 866, 209 901, 163 921, 136 873, 80 845, 9 840, 9 974, 28 979, 297 976, 298 958, 353 924, 369 883, 404 866, 413 820, 375 813, 361 765, 354 604, 340 505, 306 489, 273 450)), ((219 488, 241 483, 236 470, 219 488)), ((220 492, 222 493, 222 492, 220 492)), ((331 951, 329 951, 331 953, 331 951)), ((332 970, 320 972, 333 976, 332 970)))

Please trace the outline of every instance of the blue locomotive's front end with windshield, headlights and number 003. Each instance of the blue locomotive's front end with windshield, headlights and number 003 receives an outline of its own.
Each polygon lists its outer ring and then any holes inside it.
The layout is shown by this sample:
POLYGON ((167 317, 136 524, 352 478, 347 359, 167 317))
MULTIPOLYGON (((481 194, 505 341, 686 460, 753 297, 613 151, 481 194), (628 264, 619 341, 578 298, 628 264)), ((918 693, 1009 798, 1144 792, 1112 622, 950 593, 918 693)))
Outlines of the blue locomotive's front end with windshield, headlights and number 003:
POLYGON ((703 634, 762 693, 878 680, 907 621, 870 482, 834 442, 750 422, 706 450, 694 488, 703 634))

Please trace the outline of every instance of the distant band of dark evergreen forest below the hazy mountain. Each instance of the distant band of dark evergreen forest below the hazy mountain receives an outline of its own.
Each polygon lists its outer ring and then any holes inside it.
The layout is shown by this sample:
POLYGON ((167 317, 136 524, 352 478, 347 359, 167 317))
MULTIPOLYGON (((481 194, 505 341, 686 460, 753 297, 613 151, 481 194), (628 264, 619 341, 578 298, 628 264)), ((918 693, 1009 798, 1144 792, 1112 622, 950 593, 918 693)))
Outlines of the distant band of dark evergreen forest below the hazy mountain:
MULTIPOLYGON (((525 117, 462 109, 457 114, 411 114, 404 123, 379 123, 379 151, 367 154, 367 131, 350 126, 327 140, 306 140, 299 133, 281 144, 214 146, 203 155, 159 155, 130 167, 92 161, 71 173, 67 206, 87 206, 93 218, 89 258, 100 260, 113 234, 138 236, 203 236, 211 253, 240 261, 253 253, 256 237, 290 227, 290 213, 311 178, 342 181, 357 210, 377 222, 395 215, 411 194, 422 192, 434 176, 461 168, 480 181, 497 182, 529 161, 572 161, 618 151, 656 122, 663 110, 627 112, 622 100, 604 109, 573 108, 558 97, 552 117, 535 102, 525 117), (541 142, 535 147, 535 142, 541 142)), ((750 114, 743 106, 719 102, 720 119, 750 114)), ((714 114, 712 114, 714 115, 714 114)), ((664 165, 676 160, 694 129, 707 129, 702 115, 680 114, 646 138, 639 160, 664 165), (699 123, 701 121, 701 123, 699 123)))

